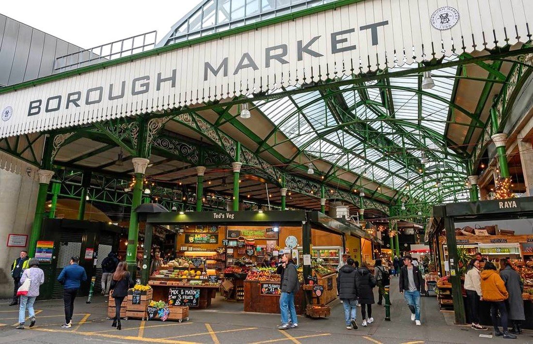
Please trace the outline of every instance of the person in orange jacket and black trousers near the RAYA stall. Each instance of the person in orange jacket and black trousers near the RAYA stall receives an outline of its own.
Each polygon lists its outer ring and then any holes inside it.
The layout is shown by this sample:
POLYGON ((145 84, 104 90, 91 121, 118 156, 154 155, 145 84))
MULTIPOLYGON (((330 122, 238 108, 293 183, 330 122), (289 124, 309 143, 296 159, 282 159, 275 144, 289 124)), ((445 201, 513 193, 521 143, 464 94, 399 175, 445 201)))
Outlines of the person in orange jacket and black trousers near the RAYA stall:
POLYGON ((483 271, 481 271, 481 293, 483 300, 490 302, 490 318, 494 326, 494 335, 496 337, 503 335, 505 339, 516 339, 516 335, 507 331, 508 316, 505 300, 508 299, 509 293, 505 289, 502 277, 496 271, 496 266, 489 261, 485 262, 483 271), (498 329, 498 312, 503 333, 498 329))

